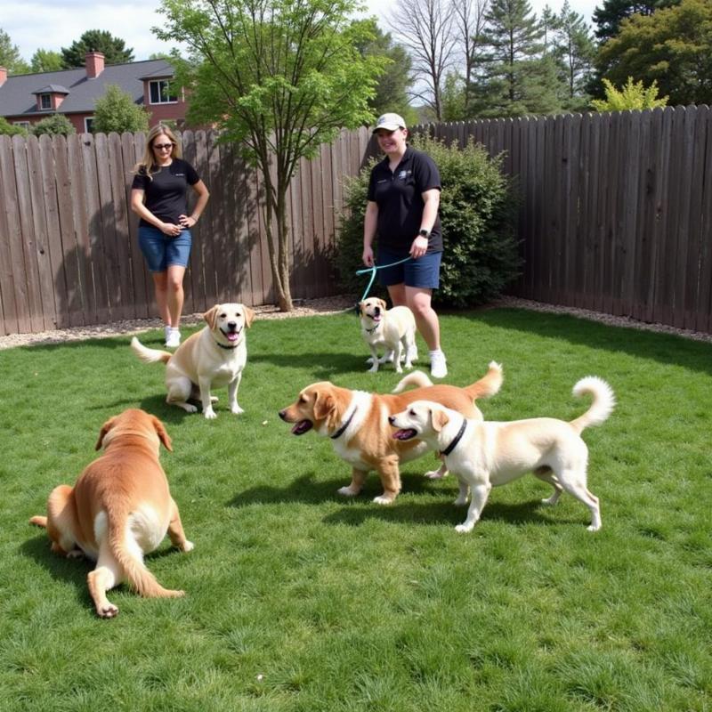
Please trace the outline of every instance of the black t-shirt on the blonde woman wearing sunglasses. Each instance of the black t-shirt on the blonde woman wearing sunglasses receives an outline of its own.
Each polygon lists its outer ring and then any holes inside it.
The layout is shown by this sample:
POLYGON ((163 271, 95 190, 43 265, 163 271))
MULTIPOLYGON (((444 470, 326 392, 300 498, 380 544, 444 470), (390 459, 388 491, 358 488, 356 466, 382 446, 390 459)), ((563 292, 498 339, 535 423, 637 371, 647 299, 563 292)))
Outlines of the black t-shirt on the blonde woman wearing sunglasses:
MULTIPOLYGON (((199 180, 200 177, 190 163, 182 158, 174 158, 170 166, 163 166, 151 174, 151 178, 144 168, 139 169, 131 187, 145 192, 145 205, 158 220, 177 225, 178 217, 188 214, 188 186, 195 185, 199 180)), ((139 224, 151 227, 143 219, 139 224)))

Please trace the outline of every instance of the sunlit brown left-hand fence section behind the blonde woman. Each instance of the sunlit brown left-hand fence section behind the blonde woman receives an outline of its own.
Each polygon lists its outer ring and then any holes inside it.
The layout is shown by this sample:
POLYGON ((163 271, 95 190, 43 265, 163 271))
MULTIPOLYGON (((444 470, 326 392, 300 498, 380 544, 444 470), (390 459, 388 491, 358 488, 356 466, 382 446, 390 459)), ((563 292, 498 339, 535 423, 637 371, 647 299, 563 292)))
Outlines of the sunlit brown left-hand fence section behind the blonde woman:
MULTIPOLYGON (((329 255, 342 178, 358 173, 368 138, 365 128, 344 132, 292 182, 295 298, 336 292, 329 255)), ((129 206, 143 145, 143 134, 0 136, 0 333, 156 314, 129 206)), ((185 132, 182 147, 211 193, 192 231, 184 311, 273 303, 257 174, 213 132, 185 132)))

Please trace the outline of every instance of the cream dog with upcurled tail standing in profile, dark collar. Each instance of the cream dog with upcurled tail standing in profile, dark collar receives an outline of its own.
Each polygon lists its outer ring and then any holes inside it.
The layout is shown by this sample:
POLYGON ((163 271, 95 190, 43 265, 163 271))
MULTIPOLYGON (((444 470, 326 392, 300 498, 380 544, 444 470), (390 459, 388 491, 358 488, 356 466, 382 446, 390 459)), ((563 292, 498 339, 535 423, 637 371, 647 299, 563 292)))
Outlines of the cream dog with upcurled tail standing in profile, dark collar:
POLYGON ((588 448, 581 432, 591 425, 601 425, 616 401, 611 386, 596 376, 578 381, 573 394, 589 394, 594 401, 586 413, 570 423, 551 417, 477 422, 428 401, 410 403, 389 422, 397 428, 392 434, 395 440, 419 438, 441 452, 460 483, 456 505, 467 503, 470 490, 467 518, 457 525, 457 531, 472 531, 492 487, 528 472, 554 487, 554 494, 543 500, 545 504, 555 505, 562 490, 583 502, 591 511, 588 530, 596 531, 601 529, 601 510, 598 498, 587 489, 588 448))

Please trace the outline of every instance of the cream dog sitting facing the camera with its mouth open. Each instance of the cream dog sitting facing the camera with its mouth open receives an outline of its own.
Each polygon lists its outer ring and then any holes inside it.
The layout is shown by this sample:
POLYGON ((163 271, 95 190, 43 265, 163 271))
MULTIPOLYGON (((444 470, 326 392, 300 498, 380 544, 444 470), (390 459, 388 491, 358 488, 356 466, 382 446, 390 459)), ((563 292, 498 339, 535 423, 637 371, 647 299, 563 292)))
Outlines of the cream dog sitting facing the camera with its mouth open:
POLYGON ((145 363, 166 364, 166 403, 195 413, 198 408, 188 400, 199 396, 203 415, 212 419, 217 417, 213 410, 217 398, 210 389, 227 385, 228 405, 239 415, 244 412, 238 405, 238 387, 247 363, 245 329, 252 325, 255 312, 244 304, 215 304, 203 319, 207 326, 189 336, 174 353, 149 349, 135 336, 131 348, 145 363))

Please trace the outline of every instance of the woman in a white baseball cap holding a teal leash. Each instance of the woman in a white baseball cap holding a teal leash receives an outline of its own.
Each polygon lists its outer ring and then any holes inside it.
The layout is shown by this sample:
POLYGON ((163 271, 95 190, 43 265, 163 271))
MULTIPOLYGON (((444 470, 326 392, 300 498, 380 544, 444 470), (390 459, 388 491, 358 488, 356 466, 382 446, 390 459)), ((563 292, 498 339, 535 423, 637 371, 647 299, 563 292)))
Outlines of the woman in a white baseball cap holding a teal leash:
POLYGON ((363 263, 374 265, 376 234, 379 264, 411 257, 379 270, 379 281, 388 288, 393 306, 405 305, 413 312, 428 346, 431 375, 444 378, 448 367, 440 347, 440 321, 431 305, 433 289, 440 286, 440 173, 432 158, 406 143, 408 129, 398 114, 378 117, 373 133, 385 158, 373 167, 368 182, 363 263))

